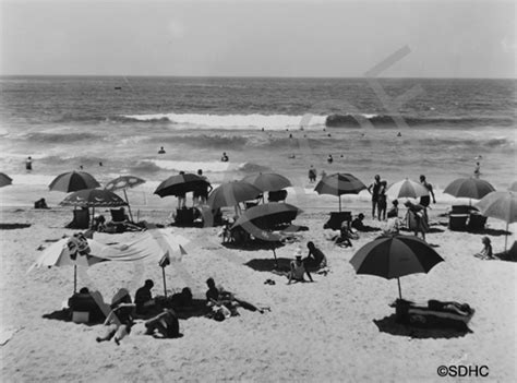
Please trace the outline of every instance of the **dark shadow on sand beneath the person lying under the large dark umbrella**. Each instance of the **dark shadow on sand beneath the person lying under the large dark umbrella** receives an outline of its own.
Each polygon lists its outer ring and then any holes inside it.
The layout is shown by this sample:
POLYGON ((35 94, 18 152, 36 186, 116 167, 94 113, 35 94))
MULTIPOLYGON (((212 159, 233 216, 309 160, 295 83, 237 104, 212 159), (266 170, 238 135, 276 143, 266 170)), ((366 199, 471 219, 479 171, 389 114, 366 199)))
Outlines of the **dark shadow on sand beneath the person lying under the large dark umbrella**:
POLYGON ((459 338, 472 333, 467 325, 458 326, 417 326, 402 324, 396 321, 396 315, 392 314, 382 320, 373 320, 378 331, 386 334, 407 336, 414 339, 450 339, 459 338))

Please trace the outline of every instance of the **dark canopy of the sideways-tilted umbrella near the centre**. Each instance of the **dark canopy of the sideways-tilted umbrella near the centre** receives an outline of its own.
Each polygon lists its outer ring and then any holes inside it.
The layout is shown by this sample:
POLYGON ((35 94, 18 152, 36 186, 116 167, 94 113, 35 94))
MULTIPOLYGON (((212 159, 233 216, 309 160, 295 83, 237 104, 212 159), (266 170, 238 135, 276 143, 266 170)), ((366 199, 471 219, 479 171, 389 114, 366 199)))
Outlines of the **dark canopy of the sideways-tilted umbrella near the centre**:
POLYGON ((242 226, 256 226, 260 229, 273 229, 279 224, 293 220, 301 213, 297 206, 287 203, 266 203, 247 210, 233 224, 232 229, 242 226))

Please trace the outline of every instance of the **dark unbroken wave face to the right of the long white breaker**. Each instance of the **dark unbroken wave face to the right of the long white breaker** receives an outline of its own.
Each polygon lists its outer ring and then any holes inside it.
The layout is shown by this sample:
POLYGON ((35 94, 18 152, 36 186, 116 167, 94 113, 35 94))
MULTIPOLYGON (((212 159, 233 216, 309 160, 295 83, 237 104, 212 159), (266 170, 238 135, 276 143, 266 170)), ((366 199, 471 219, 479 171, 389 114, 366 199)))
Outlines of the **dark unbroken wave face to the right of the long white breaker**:
POLYGON ((396 118, 402 120, 409 127, 433 125, 433 127, 510 127, 515 120, 508 117, 412 117, 392 115, 330 115, 325 120, 329 128, 360 128, 360 127, 397 127, 396 118))

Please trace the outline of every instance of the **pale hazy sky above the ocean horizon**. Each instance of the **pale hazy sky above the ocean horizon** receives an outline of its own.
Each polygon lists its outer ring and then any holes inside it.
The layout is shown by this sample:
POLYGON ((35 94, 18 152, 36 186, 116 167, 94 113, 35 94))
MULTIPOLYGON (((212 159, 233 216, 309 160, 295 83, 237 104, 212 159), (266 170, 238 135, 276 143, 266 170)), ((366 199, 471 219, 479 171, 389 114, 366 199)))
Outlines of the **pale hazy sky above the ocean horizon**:
POLYGON ((515 77, 513 1, 5 1, 1 74, 515 77))

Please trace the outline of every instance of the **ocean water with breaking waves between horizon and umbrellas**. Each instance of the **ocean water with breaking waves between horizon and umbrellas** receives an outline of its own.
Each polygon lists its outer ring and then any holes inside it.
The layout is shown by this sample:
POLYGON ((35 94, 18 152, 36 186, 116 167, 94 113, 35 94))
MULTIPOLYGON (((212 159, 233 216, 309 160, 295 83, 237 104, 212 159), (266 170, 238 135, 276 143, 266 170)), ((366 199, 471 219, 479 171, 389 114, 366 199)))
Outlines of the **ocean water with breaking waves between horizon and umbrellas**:
POLYGON ((101 182, 203 169, 303 184, 313 165, 440 189, 477 160, 497 189, 517 178, 515 80, 3 76, 0 97, 0 171, 17 182, 82 166, 101 182))

